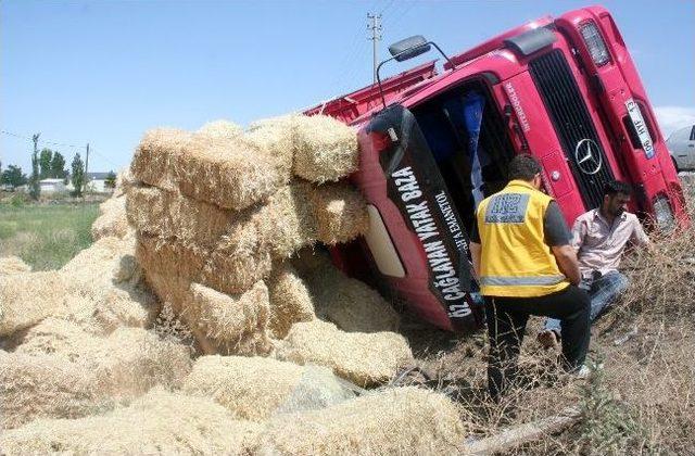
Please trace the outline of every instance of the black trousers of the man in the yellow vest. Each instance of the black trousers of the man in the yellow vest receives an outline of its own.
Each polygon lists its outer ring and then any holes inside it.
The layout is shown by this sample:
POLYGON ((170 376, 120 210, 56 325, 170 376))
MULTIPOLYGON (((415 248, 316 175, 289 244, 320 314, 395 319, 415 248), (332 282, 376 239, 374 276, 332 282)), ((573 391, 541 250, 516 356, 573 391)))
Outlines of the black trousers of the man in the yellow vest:
POLYGON ((492 397, 498 398, 514 381, 517 357, 530 315, 560 320, 563 364, 567 370, 574 370, 584 364, 591 337, 590 309, 589 294, 574 286, 540 297, 485 296, 490 338, 488 388, 492 397))

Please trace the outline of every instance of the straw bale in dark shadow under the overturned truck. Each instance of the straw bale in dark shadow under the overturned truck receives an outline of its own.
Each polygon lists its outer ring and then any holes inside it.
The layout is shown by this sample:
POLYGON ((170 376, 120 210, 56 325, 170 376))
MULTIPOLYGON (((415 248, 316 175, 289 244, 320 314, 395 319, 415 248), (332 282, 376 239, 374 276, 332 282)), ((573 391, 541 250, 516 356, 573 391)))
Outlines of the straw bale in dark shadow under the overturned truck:
POLYGON ((318 318, 348 332, 396 331, 399 314, 381 295, 359 280, 346 277, 327 256, 304 276, 318 318))

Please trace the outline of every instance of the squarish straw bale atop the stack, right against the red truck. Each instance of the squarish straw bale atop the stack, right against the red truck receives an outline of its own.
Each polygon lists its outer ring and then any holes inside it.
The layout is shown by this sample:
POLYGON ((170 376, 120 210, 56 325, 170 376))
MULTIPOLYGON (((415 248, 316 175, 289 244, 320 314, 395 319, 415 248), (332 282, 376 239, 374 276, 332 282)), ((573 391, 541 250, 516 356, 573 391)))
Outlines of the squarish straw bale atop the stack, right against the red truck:
POLYGON ((295 122, 294 174, 323 183, 357 169, 357 135, 332 117, 300 116, 295 122))

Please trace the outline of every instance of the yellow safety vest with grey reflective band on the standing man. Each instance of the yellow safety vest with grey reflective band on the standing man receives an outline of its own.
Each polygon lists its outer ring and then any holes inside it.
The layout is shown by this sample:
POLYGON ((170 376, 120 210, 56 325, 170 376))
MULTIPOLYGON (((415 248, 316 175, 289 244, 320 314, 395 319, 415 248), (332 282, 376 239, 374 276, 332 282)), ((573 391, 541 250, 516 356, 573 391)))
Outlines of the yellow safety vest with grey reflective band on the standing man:
POLYGON ((513 180, 480 202, 477 218, 483 295, 545 296, 569 286, 544 242, 543 219, 551 201, 530 183, 513 180))

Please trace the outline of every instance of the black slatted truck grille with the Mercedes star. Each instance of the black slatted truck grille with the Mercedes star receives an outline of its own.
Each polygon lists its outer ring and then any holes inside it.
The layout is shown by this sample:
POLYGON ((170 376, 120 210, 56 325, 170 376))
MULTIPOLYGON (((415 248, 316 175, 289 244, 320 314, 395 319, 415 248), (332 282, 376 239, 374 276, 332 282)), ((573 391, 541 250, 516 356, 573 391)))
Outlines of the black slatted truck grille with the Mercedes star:
POLYGON ((533 59, 529 68, 563 144, 584 205, 586 208, 598 207, 603 200, 604 183, 612 180, 614 175, 567 60, 560 50, 554 50, 533 59), (594 156, 601 156, 601 166, 595 173, 596 162, 584 160, 587 148, 594 156))

